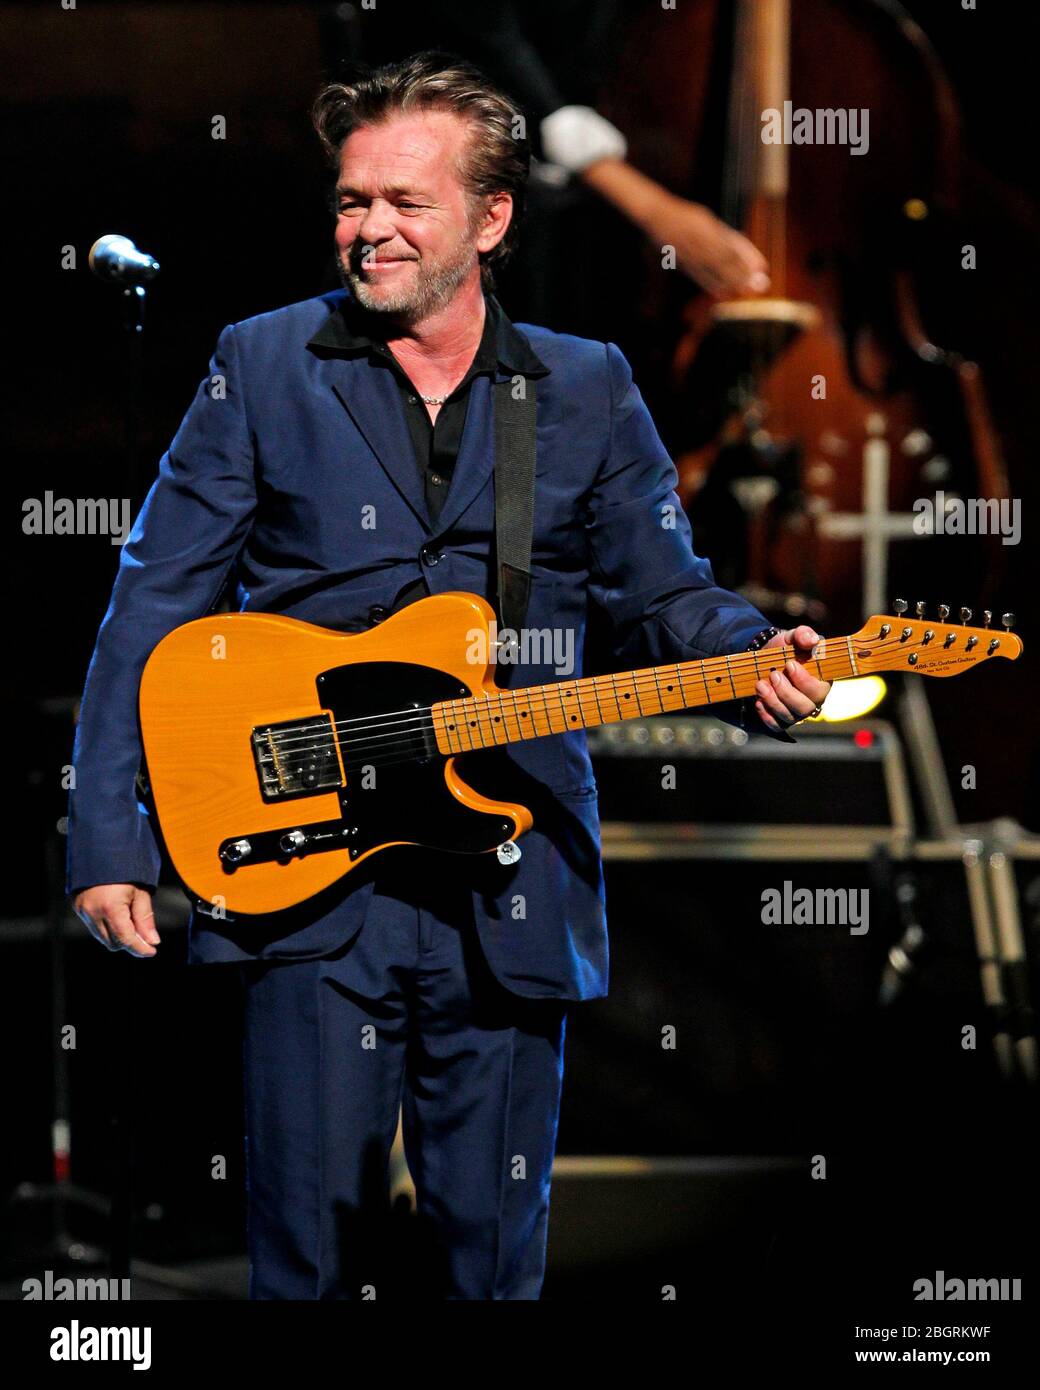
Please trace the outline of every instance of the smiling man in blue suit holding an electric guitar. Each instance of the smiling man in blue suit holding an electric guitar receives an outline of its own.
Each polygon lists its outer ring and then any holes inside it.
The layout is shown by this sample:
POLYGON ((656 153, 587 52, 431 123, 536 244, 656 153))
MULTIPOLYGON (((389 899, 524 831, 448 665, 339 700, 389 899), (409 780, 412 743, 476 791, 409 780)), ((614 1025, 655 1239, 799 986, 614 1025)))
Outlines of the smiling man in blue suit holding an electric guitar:
MULTIPOLYGON (((570 630, 580 652, 591 596, 633 664, 770 632, 774 646, 816 641, 769 630, 692 553, 621 353, 520 331, 485 293, 516 240, 517 117, 438 54, 318 97, 346 288, 221 334, 122 550, 88 674, 68 887, 110 949, 159 945, 159 851, 135 792, 152 648, 232 573, 241 607, 346 630, 427 592, 494 598, 494 382, 538 384, 533 628, 570 630)), ((552 678, 520 663, 501 677, 552 678)), ((791 664, 762 682, 751 719, 790 737, 827 689, 791 664)), ((428 1293, 539 1294, 566 1006, 606 992, 595 783, 580 731, 484 767, 534 810, 517 863, 399 848, 317 906, 234 922, 195 903, 190 959, 238 960, 246 987, 250 1297, 378 1297, 364 1223, 385 1201, 402 1102, 428 1293)))

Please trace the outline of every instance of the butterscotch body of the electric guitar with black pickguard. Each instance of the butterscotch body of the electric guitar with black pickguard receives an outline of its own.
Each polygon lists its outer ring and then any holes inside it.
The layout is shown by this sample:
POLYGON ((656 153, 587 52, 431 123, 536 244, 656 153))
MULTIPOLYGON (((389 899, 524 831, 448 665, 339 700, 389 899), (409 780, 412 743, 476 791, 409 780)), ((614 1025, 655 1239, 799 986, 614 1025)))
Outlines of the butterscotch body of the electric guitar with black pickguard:
POLYGON ((140 681, 147 776, 192 894, 231 915, 302 902, 388 845, 460 853, 530 830, 437 746, 430 706, 494 689, 491 606, 412 605, 343 634, 267 613, 188 623, 140 681), (304 837, 304 838, 300 838, 304 837))

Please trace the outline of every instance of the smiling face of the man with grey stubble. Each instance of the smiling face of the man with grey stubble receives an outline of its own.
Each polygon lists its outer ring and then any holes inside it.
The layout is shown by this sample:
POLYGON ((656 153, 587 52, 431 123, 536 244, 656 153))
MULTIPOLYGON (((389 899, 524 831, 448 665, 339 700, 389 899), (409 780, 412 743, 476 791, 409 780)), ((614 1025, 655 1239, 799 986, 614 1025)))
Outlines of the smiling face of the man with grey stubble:
POLYGON ((459 158, 470 124, 420 111, 366 125, 343 142, 336 182, 336 257, 364 309, 417 322, 459 286, 480 282, 478 253, 506 232, 507 193, 480 203, 459 158))

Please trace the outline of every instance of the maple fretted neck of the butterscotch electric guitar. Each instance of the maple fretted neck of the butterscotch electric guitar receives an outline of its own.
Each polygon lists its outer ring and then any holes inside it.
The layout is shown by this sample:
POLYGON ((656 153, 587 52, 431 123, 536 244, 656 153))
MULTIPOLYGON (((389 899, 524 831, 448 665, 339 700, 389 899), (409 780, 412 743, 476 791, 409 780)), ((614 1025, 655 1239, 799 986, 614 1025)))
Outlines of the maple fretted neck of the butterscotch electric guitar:
MULTIPOLYGON (((858 674, 852 638, 823 638, 813 651, 802 664, 820 680, 858 674)), ((724 705, 754 695, 755 682, 767 680, 788 656, 772 648, 444 701, 434 705, 437 742, 445 753, 463 753, 667 710, 724 705)))

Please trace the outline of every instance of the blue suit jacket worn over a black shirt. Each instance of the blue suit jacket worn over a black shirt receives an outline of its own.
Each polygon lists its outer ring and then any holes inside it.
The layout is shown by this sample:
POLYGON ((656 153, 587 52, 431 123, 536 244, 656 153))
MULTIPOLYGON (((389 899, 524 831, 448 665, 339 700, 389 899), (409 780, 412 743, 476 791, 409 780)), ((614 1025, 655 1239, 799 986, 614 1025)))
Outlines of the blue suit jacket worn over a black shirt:
MULTIPOLYGON (((335 292, 229 325, 122 548, 88 671, 70 796, 67 888, 154 885, 157 827, 139 802, 136 696, 171 628, 203 616, 228 577, 243 610, 359 631, 374 606, 424 580, 495 603, 491 378, 477 377, 442 516, 431 527, 392 374, 310 339, 339 313, 335 292), (432 560, 432 563, 431 563, 432 560)), ((676 470, 613 343, 514 325, 548 371, 538 384, 533 584, 527 624, 571 628, 577 666, 587 599, 613 621, 626 666, 742 651, 766 619, 715 584, 694 555, 676 470)), ((496 379, 506 379, 499 370, 496 379)), ((501 684, 562 678, 501 666, 501 684)), ((733 721, 737 705, 723 710, 733 721)), ((759 726, 755 733, 765 733, 759 726)), ((519 863, 437 856, 473 890, 488 962, 530 997, 598 998, 608 937, 596 785, 584 731, 466 755, 477 784, 531 806, 519 863), (492 763, 491 760, 495 759, 492 763)), ((409 872, 407 848, 398 855, 409 872)), ((381 855, 321 899, 271 917, 192 909, 189 960, 302 958, 360 930, 381 855)), ((424 859, 412 860, 425 863, 424 859)))

